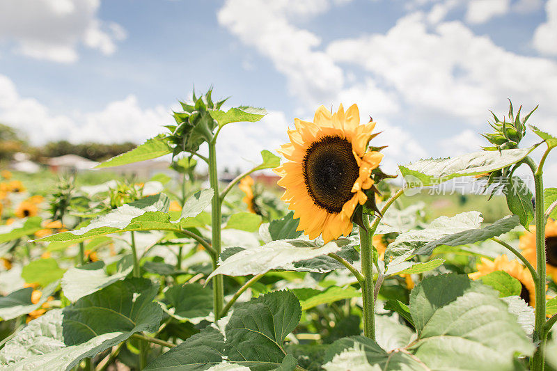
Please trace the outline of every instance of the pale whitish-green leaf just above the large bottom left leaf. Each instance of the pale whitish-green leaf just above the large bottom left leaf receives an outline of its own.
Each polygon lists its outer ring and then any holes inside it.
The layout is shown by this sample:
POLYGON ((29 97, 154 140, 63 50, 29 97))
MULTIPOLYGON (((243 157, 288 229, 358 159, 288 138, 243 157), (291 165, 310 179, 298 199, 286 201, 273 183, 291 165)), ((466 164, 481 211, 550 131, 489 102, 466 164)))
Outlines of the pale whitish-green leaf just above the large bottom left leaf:
POLYGON ((70 301, 77 301, 125 278, 134 268, 132 255, 126 255, 118 262, 116 273, 112 276, 103 267, 104 263, 99 261, 68 269, 62 278, 64 296, 70 301))

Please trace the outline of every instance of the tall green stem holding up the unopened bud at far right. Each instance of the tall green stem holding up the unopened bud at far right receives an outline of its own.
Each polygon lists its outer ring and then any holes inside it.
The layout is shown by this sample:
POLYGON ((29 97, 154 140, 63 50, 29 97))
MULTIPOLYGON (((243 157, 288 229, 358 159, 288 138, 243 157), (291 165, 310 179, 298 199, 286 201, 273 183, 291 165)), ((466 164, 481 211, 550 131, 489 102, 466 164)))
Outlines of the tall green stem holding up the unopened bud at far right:
MULTIPOLYGON (((549 148, 544 153, 542 159, 547 157, 549 148)), ((543 185, 543 163, 536 166, 531 157, 526 157, 526 164, 530 166, 534 175, 535 184, 535 248, 536 265, 538 269, 538 281, 535 282, 535 324, 534 341, 539 340, 538 350, 532 360, 532 370, 544 370, 545 340, 547 334, 544 333, 545 325, 545 281, 546 281, 546 255, 545 255, 545 216, 544 216, 544 185, 543 185)))

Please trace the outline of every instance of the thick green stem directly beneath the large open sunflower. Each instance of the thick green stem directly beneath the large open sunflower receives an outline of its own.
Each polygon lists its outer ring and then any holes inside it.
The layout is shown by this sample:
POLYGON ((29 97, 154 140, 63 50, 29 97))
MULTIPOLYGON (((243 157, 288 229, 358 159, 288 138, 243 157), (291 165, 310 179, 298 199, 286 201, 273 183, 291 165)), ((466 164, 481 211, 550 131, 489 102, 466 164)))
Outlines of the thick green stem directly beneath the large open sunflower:
POLYGON ((366 214, 362 215, 363 225, 360 226, 360 253, 361 273, 363 275, 363 286, 361 295, 363 300, 363 335, 375 340, 375 302, 373 299, 373 262, 372 262, 372 233, 370 233, 369 219, 366 214))

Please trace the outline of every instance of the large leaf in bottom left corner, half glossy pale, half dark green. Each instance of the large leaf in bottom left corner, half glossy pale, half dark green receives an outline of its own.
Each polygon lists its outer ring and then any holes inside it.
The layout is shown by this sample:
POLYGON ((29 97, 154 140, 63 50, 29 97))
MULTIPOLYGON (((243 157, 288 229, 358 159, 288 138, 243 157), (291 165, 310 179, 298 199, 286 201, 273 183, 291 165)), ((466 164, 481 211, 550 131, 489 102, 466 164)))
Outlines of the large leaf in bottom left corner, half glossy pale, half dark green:
POLYGON ((70 370, 79 360, 118 345, 133 333, 154 332, 163 312, 157 286, 143 278, 118 281, 29 322, 0 350, 10 370, 70 370))

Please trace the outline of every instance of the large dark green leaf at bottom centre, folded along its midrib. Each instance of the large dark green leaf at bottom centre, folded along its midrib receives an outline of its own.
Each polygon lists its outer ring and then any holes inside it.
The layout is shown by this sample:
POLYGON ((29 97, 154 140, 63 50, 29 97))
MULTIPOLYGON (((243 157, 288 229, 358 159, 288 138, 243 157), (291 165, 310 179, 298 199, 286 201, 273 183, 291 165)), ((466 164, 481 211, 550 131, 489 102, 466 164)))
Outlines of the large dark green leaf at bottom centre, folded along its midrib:
POLYGON ((283 341, 300 317, 295 294, 270 292, 235 306, 222 332, 207 327, 152 361, 146 370, 209 370, 223 362, 219 369, 241 365, 254 371, 292 370, 283 341))

